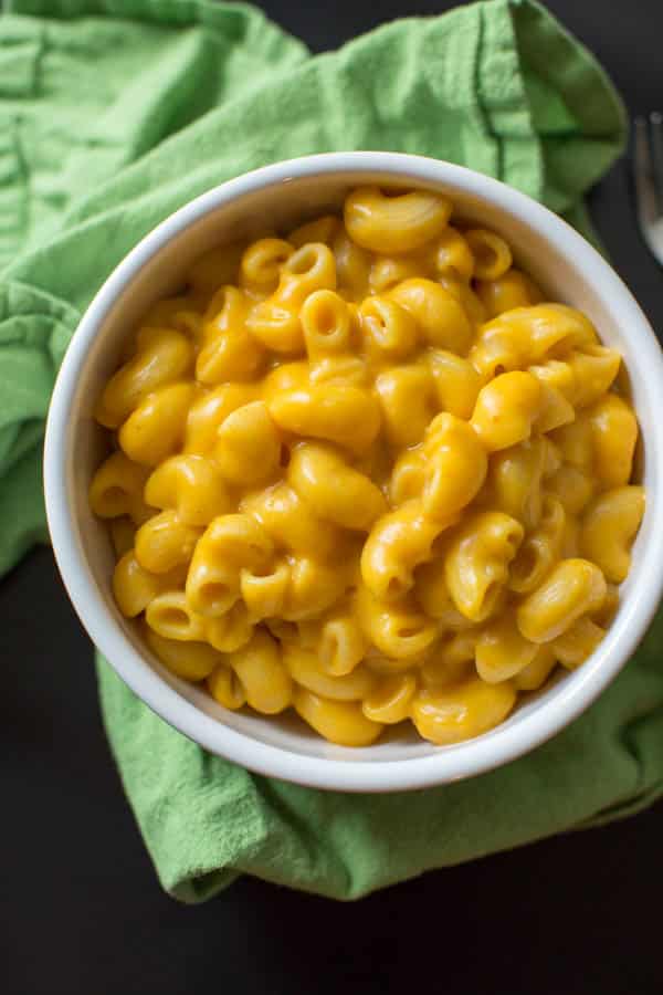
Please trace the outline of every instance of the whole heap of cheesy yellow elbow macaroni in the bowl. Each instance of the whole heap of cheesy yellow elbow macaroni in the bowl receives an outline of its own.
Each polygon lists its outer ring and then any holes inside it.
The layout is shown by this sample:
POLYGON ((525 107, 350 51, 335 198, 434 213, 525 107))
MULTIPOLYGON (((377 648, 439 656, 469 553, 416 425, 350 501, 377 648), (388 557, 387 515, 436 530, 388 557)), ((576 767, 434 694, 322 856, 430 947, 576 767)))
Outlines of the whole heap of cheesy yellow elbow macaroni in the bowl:
POLYGON ((117 606, 225 709, 455 743, 617 610, 645 502, 621 357, 452 207, 362 187, 213 249, 98 399, 117 606))

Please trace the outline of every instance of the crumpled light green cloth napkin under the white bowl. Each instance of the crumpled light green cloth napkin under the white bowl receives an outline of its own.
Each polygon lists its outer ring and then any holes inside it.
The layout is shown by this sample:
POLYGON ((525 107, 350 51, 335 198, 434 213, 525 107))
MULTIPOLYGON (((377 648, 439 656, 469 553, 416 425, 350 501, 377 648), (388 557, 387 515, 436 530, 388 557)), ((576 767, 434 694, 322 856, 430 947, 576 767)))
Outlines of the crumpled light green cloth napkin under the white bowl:
MULTIPOLYGON (((82 311, 185 201, 290 156, 396 149, 497 176, 588 233, 582 196, 623 136, 601 69, 532 0, 387 24, 315 59, 242 4, 14 0, 0 18, 0 569, 45 540, 43 419, 82 311)), ((407 797, 253 776, 161 722, 104 661, 98 675, 166 889, 201 901, 246 872, 350 899, 649 804, 663 787, 657 645, 654 628, 529 756, 407 797)))

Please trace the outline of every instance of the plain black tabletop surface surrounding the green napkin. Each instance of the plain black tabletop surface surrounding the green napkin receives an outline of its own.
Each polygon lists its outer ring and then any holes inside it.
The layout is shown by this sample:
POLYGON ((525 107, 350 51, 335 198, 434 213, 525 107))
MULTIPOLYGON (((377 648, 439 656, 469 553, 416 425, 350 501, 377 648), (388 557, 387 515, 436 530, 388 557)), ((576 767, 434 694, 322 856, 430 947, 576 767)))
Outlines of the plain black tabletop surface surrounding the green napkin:
MULTIPOLYGON (((452 4, 273 0, 315 51, 452 4)), ((632 114, 663 109, 661 0, 550 0, 632 114), (656 31, 656 28, 660 30, 656 31)), ((620 163, 591 197, 615 268, 663 328, 620 163)), ((244 879, 160 890, 102 731, 92 648, 40 549, 0 583, 0 992, 6 995, 653 995, 663 992, 663 804, 603 829, 340 904, 244 879)))

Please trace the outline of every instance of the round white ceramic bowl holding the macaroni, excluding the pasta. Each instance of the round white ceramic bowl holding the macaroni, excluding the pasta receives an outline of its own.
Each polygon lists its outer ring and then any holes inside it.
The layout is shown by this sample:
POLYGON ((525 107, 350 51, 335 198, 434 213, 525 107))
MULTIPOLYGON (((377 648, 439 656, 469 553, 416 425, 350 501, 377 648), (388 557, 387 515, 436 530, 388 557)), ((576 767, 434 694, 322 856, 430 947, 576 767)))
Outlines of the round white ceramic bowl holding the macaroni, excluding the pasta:
POLYGON ((642 638, 663 587, 663 362, 638 304, 607 262, 573 229, 523 193, 470 169, 391 153, 335 153, 277 163, 186 205, 117 266, 85 313, 62 364, 46 426, 44 474, 53 548, 69 595, 92 639, 124 681, 162 719, 206 750, 251 771, 320 788, 391 792, 471 777, 520 756, 579 715, 621 670, 642 638), (107 526, 87 489, 105 452, 92 418, 135 322, 175 292, 189 262, 223 241, 294 226, 359 184, 429 187, 462 214, 493 228, 554 300, 585 311, 621 350, 643 438, 646 513, 623 600, 593 656, 530 695, 497 729, 453 746, 397 731, 364 750, 333 746, 291 715, 228 712, 167 672, 118 612, 110 591, 107 526))

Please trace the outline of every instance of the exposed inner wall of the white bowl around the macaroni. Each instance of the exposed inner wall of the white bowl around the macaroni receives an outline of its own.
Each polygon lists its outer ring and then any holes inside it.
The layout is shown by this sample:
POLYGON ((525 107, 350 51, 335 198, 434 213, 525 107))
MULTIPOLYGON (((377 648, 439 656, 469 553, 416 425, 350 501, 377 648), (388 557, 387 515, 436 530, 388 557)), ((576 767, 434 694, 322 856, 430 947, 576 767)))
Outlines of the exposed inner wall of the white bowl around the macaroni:
MULTIPOLYGON (((421 742, 414 734, 400 729, 393 731, 378 745, 361 751, 333 746, 313 734, 297 718, 288 714, 274 720, 248 712, 228 712, 201 689, 185 683, 167 672, 144 646, 133 624, 127 622, 115 606, 110 591, 114 555, 105 523, 96 520, 90 511, 87 489, 92 474, 107 449, 105 433, 92 418, 94 402, 118 364, 124 342, 133 334, 136 323, 149 305, 160 297, 176 294, 181 289, 181 274, 188 264, 208 249, 238 238, 257 237, 267 229, 287 231, 290 227, 326 210, 338 210, 349 189, 373 181, 388 182, 390 187, 399 185, 410 188, 438 187, 449 193, 454 200, 457 216, 485 224, 504 235, 512 245, 518 264, 541 284, 550 298, 572 304, 586 312, 596 323, 603 342, 622 352, 632 373, 636 369, 638 355, 628 338, 628 328, 618 323, 618 316, 601 295, 601 287, 582 276, 576 269, 573 259, 551 247, 543 234, 528 224, 523 214, 505 212, 490 200, 455 187, 453 182, 423 184, 406 176, 394 177, 392 172, 367 172, 362 169, 340 175, 293 177, 219 206, 193 220, 148 259, 117 297, 92 343, 69 412, 65 441, 66 490, 72 504, 74 541, 90 573, 90 583, 98 590, 108 616, 140 657, 135 661, 136 666, 151 668, 179 695, 199 710, 254 741, 312 758, 343 760, 349 764, 358 761, 381 763, 412 760, 439 754, 440 747, 421 742)), ((653 438, 655 428, 651 399, 648 399, 644 388, 641 388, 639 377, 633 377, 631 389, 643 436, 645 439, 653 438)), ((656 485, 653 480, 653 463, 650 465, 648 460, 646 444, 640 463, 640 474, 648 488, 653 489, 656 485)), ((648 511, 633 549, 632 574, 631 579, 623 586, 624 594, 628 594, 629 585, 639 572, 639 563, 651 537, 651 528, 652 516, 648 511)), ((620 609, 620 612, 623 611, 624 608, 620 609)), ((617 627, 617 622, 613 627, 617 627)), ((609 651, 610 638, 604 640, 597 653, 582 668, 585 675, 588 670, 601 667, 609 651)), ((571 691, 573 682, 580 679, 580 671, 565 674, 544 691, 523 699, 513 715, 498 730, 487 733, 482 739, 488 740, 520 723, 525 716, 545 708, 562 688, 571 691)), ((448 752, 462 748, 463 744, 443 747, 448 752)))

